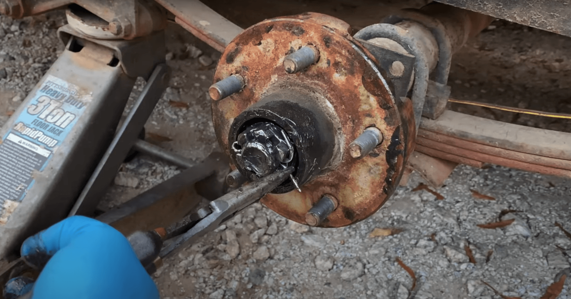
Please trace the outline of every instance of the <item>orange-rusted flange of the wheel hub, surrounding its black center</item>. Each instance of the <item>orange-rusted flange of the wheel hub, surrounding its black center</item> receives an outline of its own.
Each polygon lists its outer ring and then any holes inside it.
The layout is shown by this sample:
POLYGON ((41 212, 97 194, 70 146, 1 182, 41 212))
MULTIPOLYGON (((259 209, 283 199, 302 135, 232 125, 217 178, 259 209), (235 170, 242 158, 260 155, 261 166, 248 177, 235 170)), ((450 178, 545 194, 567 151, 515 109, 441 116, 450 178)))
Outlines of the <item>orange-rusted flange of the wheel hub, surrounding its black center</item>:
MULTIPOLYGON (((413 147, 409 138, 415 130, 412 104, 408 99, 395 102, 372 57, 351 37, 347 23, 314 13, 258 23, 223 53, 214 82, 232 74, 246 80, 243 91, 212 102, 216 136, 227 152, 232 121, 272 88, 303 88, 320 94, 324 108, 336 119, 339 148, 329 169, 303 185, 301 192, 262 199, 280 215, 305 223, 309 208, 322 195, 331 194, 339 207, 321 226, 341 227, 370 216, 394 191, 413 147), (287 74, 284 57, 305 45, 320 51, 319 61, 307 71, 287 74), (385 142, 361 160, 351 158, 346 151, 349 143, 369 126, 379 128, 385 142)), ((312 100, 319 101, 320 96, 312 100)))

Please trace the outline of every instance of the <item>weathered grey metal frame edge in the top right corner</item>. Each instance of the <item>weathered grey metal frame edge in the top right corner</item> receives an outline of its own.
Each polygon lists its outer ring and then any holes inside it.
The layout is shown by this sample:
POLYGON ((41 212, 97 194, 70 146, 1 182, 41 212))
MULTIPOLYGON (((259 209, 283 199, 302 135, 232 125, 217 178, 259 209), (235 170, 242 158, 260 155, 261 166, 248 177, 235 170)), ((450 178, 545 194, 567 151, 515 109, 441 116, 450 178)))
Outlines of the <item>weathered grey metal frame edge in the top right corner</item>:
POLYGON ((571 6, 566 0, 437 0, 481 14, 571 36, 571 6))

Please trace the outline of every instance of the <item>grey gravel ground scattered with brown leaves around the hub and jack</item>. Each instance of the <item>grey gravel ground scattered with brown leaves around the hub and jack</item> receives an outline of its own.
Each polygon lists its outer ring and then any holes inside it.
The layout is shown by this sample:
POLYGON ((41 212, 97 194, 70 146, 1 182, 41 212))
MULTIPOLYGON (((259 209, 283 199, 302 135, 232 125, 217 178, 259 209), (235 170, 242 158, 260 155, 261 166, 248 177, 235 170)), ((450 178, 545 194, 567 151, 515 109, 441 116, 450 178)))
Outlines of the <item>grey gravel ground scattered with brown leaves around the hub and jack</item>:
MULTIPOLYGON (((316 10, 315 1, 298 2, 316 10)), ((368 21, 360 20, 376 20, 368 21)), ((56 35, 63 23, 61 12, 21 21, 0 17, 0 124, 63 50, 56 35)), ((452 96, 569 113, 571 69, 562 53, 570 46, 569 38, 496 21, 456 55, 449 82, 452 96)), ((218 149, 206 91, 219 55, 174 26, 168 30, 168 49, 173 79, 147 122, 147 139, 199 161, 218 149)), ((132 97, 143 84, 138 81, 132 97)), ((571 131, 568 121, 453 107, 571 131)), ((150 157, 136 157, 120 169, 99 208, 112 208, 179 171, 150 157)), ((571 180, 493 165, 461 165, 436 190, 443 200, 425 190, 412 191, 421 182, 413 173, 375 215, 338 229, 291 223, 254 204, 166 260, 155 281, 162 297, 171 299, 404 299, 411 292, 418 299, 499 298, 482 281, 503 296, 540 298, 558 273, 569 271, 571 239, 554 223, 571 231, 571 180), (475 197, 471 190, 494 200, 475 197), (512 212, 501 216, 505 210, 512 212), (510 219, 513 223, 504 228, 477 227, 510 219), (412 269, 416 284, 398 260, 412 269)), ((558 298, 571 298, 569 284, 558 298)))

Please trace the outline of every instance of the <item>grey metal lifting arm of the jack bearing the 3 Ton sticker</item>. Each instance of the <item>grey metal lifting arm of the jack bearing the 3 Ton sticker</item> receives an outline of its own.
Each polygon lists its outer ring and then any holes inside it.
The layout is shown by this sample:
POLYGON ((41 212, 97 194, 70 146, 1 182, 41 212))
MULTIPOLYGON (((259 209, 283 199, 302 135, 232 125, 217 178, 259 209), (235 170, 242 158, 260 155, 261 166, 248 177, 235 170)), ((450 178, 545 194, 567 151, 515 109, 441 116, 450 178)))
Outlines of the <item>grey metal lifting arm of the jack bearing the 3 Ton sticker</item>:
MULTIPOLYGON (((0 171, 0 258, 15 252, 27 236, 65 218, 102 157, 106 167, 97 169, 109 172, 95 183, 105 191, 168 81, 161 64, 166 51, 162 32, 136 41, 104 41, 84 37, 68 25, 59 34, 66 50, 0 128, 0 151, 26 153, 6 164, 21 177, 0 171), (130 115, 114 140, 137 76, 147 79, 147 86, 137 102, 141 108, 134 110, 146 114, 130 115), (113 155, 104 155, 112 150, 113 155)), ((0 155, 0 164, 6 159, 0 155)), ((102 196, 85 195, 87 200, 73 211, 90 215, 102 196)))

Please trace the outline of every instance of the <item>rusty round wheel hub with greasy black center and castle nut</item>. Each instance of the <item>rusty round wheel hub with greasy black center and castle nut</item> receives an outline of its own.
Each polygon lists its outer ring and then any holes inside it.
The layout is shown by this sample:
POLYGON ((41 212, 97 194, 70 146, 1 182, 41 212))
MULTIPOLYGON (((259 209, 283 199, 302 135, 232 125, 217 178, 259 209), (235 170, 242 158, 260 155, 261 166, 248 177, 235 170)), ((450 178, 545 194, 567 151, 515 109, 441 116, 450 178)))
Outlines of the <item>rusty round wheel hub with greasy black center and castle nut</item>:
POLYGON ((412 151, 412 107, 393 98, 372 57, 347 23, 316 13, 268 19, 228 45, 211 89, 220 145, 250 180, 296 168, 262 199, 267 207, 307 224, 328 195, 335 209, 319 225, 342 227, 371 216, 394 191, 412 151), (351 154, 372 127, 380 144, 351 154))

